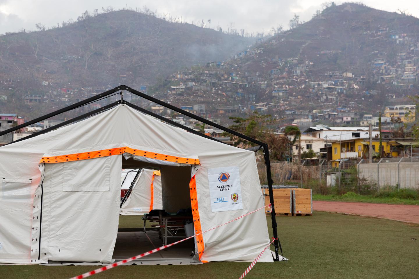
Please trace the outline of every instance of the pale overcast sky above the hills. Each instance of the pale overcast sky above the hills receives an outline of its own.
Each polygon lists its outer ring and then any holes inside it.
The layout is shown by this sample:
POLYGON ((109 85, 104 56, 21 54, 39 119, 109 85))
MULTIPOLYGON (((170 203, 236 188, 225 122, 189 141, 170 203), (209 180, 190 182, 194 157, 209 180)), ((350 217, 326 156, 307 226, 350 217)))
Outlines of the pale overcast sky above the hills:
MULTIPOLYGON (((256 33, 267 33, 273 26, 279 24, 288 28, 288 22, 294 13, 302 20, 310 20, 316 10, 321 9, 325 0, 0 0, 0 33, 19 31, 21 29, 35 30, 36 23, 47 27, 57 26, 57 23, 72 18, 88 10, 101 11, 102 7, 143 8, 157 10, 158 14, 171 14, 182 17, 188 23, 202 21, 206 24, 211 19, 211 27, 219 25, 227 29, 234 23, 237 30, 256 33)), ((335 1, 336 4, 344 1, 335 1)), ((358 1, 357 1, 358 2, 358 1)), ((372 8, 395 12, 406 10, 419 18, 418 0, 364 0, 361 1, 372 8)))

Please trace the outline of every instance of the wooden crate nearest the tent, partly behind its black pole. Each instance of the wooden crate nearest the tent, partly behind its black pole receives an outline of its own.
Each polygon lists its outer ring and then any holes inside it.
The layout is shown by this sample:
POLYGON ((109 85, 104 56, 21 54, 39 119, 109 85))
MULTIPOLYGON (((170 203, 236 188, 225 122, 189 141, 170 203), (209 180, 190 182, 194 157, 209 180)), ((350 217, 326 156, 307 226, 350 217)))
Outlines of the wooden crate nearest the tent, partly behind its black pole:
MULTIPOLYGON (((269 194, 268 189, 262 189, 264 194, 269 194)), ((275 215, 291 216, 292 215, 292 192, 291 189, 272 189, 274 192, 275 215)), ((265 205, 271 202, 269 196, 265 196, 265 205)), ((271 215, 271 209, 265 207, 266 215, 271 215)))

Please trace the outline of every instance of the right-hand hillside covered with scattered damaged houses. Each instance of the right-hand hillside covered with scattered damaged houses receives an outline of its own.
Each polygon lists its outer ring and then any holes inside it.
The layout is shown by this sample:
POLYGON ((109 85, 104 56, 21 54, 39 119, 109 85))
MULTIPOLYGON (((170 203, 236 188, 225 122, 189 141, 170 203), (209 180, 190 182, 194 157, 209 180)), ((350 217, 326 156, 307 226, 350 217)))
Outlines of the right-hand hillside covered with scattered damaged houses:
POLYGON ((362 115, 378 116, 417 94, 418 35, 419 19, 412 16, 331 6, 222 65, 176 73, 155 93, 178 105, 203 103, 223 119, 259 110, 285 123, 360 125, 362 115), (177 84, 185 88, 170 87, 177 84))

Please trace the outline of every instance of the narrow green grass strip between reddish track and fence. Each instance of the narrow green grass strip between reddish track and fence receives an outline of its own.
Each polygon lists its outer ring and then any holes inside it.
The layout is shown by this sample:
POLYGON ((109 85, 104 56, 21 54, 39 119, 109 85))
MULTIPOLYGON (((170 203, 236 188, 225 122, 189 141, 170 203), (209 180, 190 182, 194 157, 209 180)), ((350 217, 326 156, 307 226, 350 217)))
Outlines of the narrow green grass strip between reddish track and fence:
POLYGON ((374 197, 372 195, 313 195, 313 200, 339 202, 389 203, 393 205, 419 205, 419 200, 401 199, 398 197, 374 197))

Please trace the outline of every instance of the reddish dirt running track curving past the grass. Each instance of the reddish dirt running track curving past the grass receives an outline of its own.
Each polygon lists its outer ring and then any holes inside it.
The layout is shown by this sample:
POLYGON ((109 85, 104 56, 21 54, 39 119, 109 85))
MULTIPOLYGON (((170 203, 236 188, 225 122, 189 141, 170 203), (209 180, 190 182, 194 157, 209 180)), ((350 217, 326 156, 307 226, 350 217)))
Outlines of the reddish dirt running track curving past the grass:
POLYGON ((419 224, 419 205, 313 201, 313 210, 372 216, 419 224))

